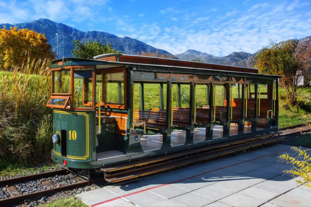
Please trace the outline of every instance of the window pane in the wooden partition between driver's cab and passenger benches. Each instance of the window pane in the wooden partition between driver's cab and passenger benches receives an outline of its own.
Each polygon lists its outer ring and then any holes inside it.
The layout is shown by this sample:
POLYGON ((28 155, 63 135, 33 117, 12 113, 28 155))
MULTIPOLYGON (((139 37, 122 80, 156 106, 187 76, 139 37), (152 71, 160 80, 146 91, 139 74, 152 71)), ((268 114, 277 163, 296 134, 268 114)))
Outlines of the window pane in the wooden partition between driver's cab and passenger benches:
POLYGON ((105 103, 124 104, 124 72, 106 73, 105 103))

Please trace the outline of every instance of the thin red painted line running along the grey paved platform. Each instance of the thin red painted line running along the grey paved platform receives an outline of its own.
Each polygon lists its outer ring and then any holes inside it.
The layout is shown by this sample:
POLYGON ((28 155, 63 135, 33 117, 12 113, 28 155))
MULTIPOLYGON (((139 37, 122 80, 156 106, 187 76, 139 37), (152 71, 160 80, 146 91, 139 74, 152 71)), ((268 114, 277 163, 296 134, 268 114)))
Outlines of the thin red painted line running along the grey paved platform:
MULTIPOLYGON (((281 151, 284 151, 284 150, 276 151, 274 153, 278 153, 278 152, 281 152, 281 151)), ((271 154, 273 154, 273 153, 271 153, 271 154)), ((130 193, 130 194, 127 194, 127 195, 124 195, 124 196, 119 196, 119 197, 116 197, 116 198, 113 198, 113 199, 110 199, 110 200, 106 200, 106 201, 103 201, 103 202, 91 205, 91 207, 95 207, 95 206, 98 206, 98 205, 101 205, 101 204, 104 204, 104 203, 108 203, 108 202, 113 201, 113 200, 117 200, 117 199, 120 199, 120 198, 124 198, 124 197, 132 196, 132 195, 135 195, 135 194, 139 194, 139 193, 142 193, 142 192, 146 192, 146 191, 149 191, 149 190, 152 190, 152 189, 155 189, 155 188, 164 187, 164 186, 176 183, 176 182, 181 182, 181 181, 184 181, 184 180, 195 178, 195 177, 207 174, 207 173, 211 173, 211 172, 214 172, 214 171, 217 171, 217 170, 229 168, 229 167, 232 167, 232 166, 235 166, 235 165, 238 165, 238 164, 247 163, 249 161, 257 160, 257 159, 260 159, 260 158, 263 158, 263 157, 267 157, 267 156, 268 155, 263 155, 263 156, 260 156, 260 157, 257 157, 257 158, 253 158, 253 159, 250 159, 250 160, 245 160, 243 162, 239 162, 239 163, 236 163, 236 164, 231 164, 231 165, 228 165, 228 166, 225 166, 225 167, 221 167, 221 168, 217 168, 217 169, 214 169, 214 170, 210 170, 210 171, 207 171, 207 172, 204 172, 204 173, 201 173, 201 174, 198 174, 198 175, 194 175, 194 176, 191 176, 191 177, 188 177, 188 178, 183 178, 181 180, 177 180, 177 181, 174 181, 174 182, 170 182, 170 183, 166 183, 166 184, 163 184, 163 185, 147 188, 145 190, 137 191, 137 192, 130 193)))

